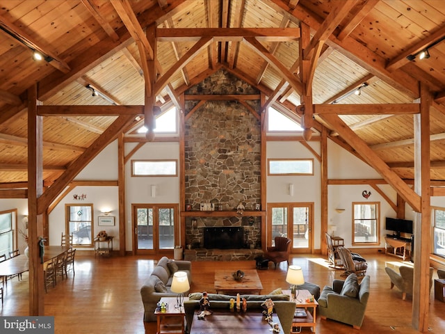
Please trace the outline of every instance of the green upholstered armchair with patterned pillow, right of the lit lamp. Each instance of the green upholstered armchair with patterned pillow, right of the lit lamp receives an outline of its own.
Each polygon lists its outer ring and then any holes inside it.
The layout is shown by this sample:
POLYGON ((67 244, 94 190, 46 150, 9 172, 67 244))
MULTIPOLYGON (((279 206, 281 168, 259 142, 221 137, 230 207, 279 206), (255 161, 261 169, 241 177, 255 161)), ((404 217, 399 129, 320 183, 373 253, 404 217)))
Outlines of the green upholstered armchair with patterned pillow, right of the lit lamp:
POLYGON ((318 315, 360 329, 369 299, 369 276, 358 283, 355 273, 346 280, 334 280, 332 287, 325 286, 318 299, 318 315))

